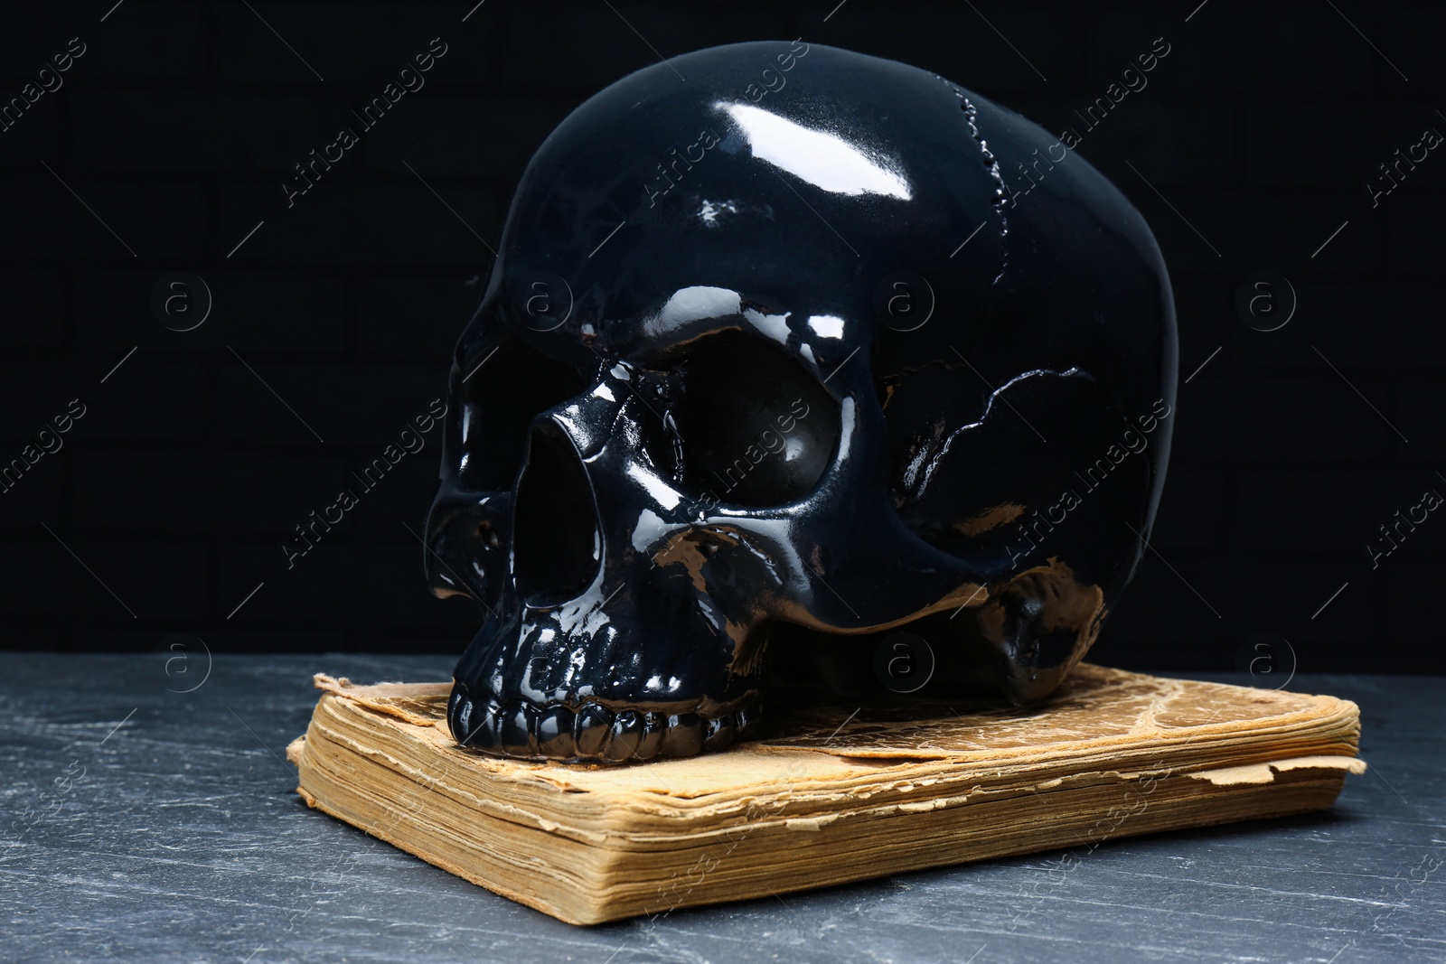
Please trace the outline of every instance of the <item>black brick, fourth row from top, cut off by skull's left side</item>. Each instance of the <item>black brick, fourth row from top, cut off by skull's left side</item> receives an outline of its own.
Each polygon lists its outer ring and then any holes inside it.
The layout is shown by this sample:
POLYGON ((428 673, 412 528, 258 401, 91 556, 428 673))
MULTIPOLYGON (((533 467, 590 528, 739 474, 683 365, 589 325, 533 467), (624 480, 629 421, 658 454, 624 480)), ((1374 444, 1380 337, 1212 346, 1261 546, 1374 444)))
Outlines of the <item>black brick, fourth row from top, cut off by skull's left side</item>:
POLYGON ((357 282, 363 354, 418 358, 445 376, 453 345, 482 299, 482 276, 363 277, 357 282))

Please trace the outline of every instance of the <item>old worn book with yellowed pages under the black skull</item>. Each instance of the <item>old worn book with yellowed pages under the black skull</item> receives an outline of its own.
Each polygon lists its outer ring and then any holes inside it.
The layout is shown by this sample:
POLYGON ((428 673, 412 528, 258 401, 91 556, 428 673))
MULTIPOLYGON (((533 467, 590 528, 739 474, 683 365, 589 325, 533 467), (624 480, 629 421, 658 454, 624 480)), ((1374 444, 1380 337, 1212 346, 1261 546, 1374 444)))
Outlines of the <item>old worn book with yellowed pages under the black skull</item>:
POLYGON ((1346 700, 1090 665, 1030 710, 775 710, 756 741, 616 767, 458 749, 450 684, 315 679, 288 749, 311 806, 573 924, 1327 809, 1365 770, 1346 700))

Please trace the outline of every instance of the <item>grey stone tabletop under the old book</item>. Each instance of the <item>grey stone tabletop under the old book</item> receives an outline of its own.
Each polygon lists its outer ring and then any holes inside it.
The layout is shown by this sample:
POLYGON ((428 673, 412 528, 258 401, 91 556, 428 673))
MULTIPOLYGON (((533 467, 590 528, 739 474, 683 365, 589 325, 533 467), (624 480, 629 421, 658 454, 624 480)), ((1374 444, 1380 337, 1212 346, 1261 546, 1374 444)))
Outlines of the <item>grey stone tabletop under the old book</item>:
POLYGON ((1362 708, 1372 769, 1330 814, 574 928, 294 792, 312 672, 445 679, 451 659, 191 647, 0 656, 0 960, 1446 960, 1442 678, 1296 678, 1362 708))

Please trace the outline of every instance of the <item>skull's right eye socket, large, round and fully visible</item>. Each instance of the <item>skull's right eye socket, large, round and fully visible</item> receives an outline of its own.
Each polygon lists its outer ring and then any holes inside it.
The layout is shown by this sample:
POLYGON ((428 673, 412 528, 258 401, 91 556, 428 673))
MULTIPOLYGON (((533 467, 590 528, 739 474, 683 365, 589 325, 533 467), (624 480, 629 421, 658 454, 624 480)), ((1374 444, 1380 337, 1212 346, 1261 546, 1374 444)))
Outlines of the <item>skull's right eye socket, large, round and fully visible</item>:
POLYGON ((722 332, 693 344, 674 409, 683 480, 743 506, 803 499, 833 461, 839 406, 818 380, 772 344, 722 332))

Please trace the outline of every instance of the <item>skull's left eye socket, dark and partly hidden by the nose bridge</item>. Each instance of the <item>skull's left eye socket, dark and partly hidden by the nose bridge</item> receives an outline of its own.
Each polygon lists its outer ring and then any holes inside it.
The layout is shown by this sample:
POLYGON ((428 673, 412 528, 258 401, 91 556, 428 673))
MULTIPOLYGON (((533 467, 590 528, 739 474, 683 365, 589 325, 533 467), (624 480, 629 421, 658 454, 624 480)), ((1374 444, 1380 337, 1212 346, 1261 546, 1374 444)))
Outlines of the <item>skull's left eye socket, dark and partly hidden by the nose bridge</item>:
POLYGON ((473 491, 508 491, 522 468, 532 419, 587 386, 571 366, 519 341, 506 340, 473 356, 460 393, 458 474, 473 491))

